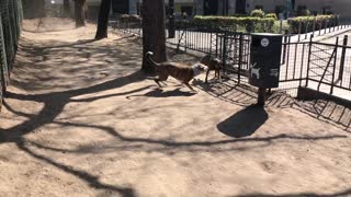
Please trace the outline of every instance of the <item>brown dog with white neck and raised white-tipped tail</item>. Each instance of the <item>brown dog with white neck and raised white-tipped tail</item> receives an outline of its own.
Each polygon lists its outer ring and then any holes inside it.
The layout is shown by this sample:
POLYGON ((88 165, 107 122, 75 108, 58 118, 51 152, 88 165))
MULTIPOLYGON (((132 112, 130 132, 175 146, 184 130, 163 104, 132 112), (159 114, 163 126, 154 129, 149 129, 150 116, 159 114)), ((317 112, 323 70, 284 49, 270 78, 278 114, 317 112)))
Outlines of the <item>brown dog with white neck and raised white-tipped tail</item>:
POLYGON ((192 86, 190 86, 189 82, 201 72, 206 71, 208 68, 203 63, 195 63, 193 66, 185 66, 178 62, 161 62, 158 63, 151 59, 154 53, 148 51, 146 57, 152 62, 156 67, 156 71, 158 72, 158 79, 155 79, 155 82, 161 88, 160 81, 166 81, 169 76, 176 78, 185 84, 190 90, 194 91, 192 86))

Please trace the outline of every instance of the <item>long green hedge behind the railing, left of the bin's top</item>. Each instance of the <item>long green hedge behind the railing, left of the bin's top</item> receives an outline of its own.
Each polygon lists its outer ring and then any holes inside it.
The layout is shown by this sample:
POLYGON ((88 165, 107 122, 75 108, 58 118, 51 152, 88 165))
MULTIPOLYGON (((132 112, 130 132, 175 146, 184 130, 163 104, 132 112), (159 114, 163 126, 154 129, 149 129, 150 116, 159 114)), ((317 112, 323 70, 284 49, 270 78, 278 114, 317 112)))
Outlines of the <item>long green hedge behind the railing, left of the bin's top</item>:
POLYGON ((245 30, 245 32, 272 32, 274 24, 272 18, 234 18, 234 16, 201 16, 195 15, 192 21, 196 26, 212 26, 222 28, 234 28, 235 31, 245 30))

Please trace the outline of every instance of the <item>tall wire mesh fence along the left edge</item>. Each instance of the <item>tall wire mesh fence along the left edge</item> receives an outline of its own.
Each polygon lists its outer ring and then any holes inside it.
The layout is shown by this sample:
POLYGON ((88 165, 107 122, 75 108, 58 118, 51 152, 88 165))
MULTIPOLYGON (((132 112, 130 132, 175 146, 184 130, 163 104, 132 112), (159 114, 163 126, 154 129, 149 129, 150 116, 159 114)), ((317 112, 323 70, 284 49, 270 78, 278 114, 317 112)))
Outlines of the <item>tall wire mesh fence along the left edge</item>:
MULTIPOLYGON (((23 20, 21 0, 0 1, 0 101, 9 84, 23 20)), ((0 102, 1 107, 1 102, 0 102)))

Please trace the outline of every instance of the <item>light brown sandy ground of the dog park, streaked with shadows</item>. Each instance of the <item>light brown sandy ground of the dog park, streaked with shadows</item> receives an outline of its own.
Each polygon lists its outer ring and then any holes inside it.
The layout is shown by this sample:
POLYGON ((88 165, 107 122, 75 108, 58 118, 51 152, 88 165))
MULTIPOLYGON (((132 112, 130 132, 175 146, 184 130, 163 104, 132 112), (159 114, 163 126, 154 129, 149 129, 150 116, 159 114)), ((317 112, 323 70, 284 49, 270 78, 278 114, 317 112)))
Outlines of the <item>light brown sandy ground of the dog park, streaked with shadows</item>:
POLYGON ((351 195, 349 108, 283 93, 252 107, 250 89, 204 76, 196 94, 174 80, 160 91, 136 38, 93 35, 23 33, 0 114, 0 196, 351 195))

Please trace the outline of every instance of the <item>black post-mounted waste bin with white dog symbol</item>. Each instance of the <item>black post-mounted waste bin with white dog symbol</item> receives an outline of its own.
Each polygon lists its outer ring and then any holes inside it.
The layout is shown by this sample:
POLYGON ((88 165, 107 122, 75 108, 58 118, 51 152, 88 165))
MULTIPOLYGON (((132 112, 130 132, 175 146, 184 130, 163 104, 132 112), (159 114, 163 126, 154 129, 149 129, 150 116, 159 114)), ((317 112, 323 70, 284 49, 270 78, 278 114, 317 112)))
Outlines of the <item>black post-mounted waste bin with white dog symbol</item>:
POLYGON ((264 105, 265 89, 279 86, 283 36, 252 34, 249 83, 259 88, 258 104, 264 105))

